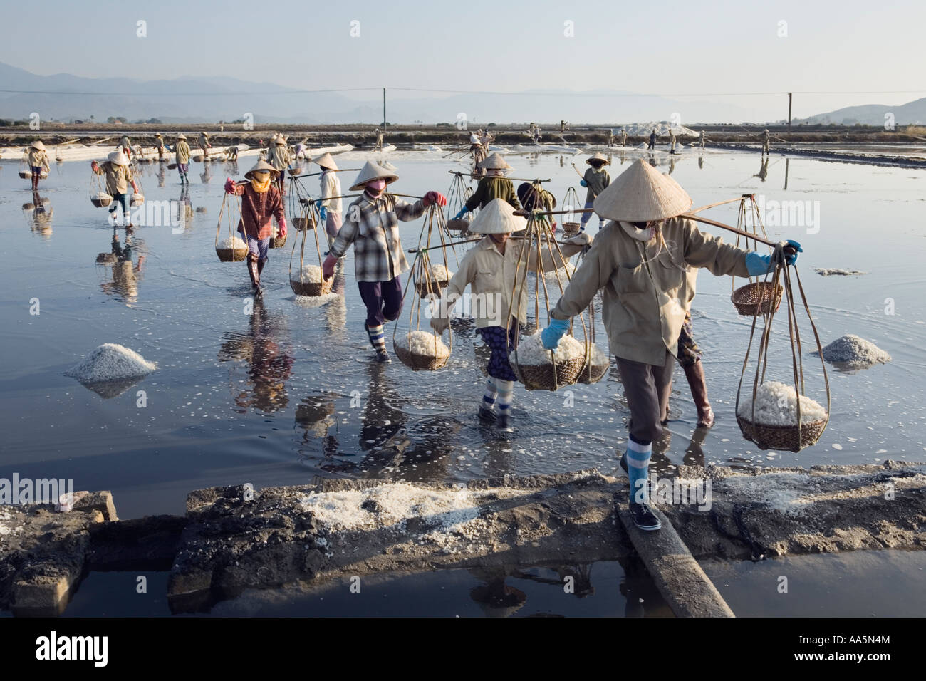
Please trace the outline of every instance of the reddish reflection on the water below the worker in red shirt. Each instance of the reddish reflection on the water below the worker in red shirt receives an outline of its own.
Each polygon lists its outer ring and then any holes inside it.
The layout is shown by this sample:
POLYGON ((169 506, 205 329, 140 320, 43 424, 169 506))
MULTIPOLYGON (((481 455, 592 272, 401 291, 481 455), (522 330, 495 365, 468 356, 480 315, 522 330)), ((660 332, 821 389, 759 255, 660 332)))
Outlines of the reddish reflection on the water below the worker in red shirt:
POLYGON ((219 361, 247 362, 244 388, 232 384, 236 411, 246 413, 253 408, 271 414, 289 404, 286 381, 293 369, 293 356, 285 317, 270 314, 260 296, 254 298, 253 306, 248 331, 225 334, 219 361), (236 394, 236 390, 240 392, 236 394))

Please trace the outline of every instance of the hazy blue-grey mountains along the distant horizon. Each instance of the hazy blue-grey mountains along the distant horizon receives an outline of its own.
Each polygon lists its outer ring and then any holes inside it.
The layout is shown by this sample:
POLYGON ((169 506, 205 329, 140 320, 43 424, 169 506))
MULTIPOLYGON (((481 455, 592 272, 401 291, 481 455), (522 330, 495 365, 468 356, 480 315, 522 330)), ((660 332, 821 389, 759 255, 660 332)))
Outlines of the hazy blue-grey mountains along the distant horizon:
MULTIPOLYGON (((0 62, 0 118, 28 119, 35 111, 44 120, 94 120, 122 116, 130 121, 164 123, 238 120, 251 113, 257 123, 339 124, 382 121, 382 97, 351 98, 340 93, 306 93, 272 82, 226 77, 189 77, 136 81, 129 78, 83 78, 67 73, 39 76, 0 62)), ((926 120, 926 99, 902 107, 848 107, 806 119, 882 125, 885 111, 895 122, 926 120), (828 119, 827 119, 828 117, 828 119)), ((571 92, 526 91, 510 95, 458 94, 411 96, 387 91, 386 115, 392 123, 454 123, 462 114, 475 127, 569 120, 614 126, 641 120, 671 120, 682 125, 770 122, 750 120, 750 111, 717 102, 682 102, 666 97, 616 90, 571 92)))

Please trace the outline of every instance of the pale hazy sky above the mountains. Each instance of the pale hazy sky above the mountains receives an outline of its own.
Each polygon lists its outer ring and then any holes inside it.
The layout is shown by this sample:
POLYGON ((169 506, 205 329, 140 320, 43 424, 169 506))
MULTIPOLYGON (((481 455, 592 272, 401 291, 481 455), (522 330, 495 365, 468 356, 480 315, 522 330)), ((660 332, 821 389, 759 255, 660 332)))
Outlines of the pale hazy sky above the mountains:
MULTIPOLYGON (((926 95, 923 2, 44 0, 10 4, 4 19, 0 61, 43 75, 222 74, 306 89, 607 88, 743 105, 757 98, 713 95, 871 93, 795 95, 795 116, 926 95), (138 19, 145 38, 136 37, 138 19), (778 36, 782 20, 787 37, 778 36), (574 37, 564 35, 567 21, 574 37)), ((759 99, 778 107, 781 98, 759 99)))

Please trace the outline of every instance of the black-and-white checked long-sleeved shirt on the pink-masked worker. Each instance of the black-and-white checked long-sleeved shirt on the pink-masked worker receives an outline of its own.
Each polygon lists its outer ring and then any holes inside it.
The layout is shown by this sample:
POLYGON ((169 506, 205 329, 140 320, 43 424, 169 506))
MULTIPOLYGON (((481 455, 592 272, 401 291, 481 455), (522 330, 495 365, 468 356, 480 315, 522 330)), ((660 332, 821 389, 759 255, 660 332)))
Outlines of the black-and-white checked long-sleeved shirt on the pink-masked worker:
POLYGON ((358 282, 388 282, 408 270, 399 238, 399 221, 424 214, 424 204, 411 204, 391 195, 371 198, 366 193, 347 207, 344 224, 329 250, 342 258, 354 245, 354 276, 358 282))

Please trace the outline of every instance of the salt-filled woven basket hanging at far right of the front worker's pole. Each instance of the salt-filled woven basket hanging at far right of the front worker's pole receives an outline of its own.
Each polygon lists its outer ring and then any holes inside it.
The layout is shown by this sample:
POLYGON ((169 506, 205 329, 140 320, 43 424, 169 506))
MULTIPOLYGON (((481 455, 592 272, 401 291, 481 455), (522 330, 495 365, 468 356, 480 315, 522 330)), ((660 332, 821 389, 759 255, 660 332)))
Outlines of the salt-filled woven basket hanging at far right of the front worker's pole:
POLYGON ((818 402, 778 381, 758 385, 754 395, 737 403, 736 422, 758 448, 800 451, 820 439, 829 414, 818 402))

